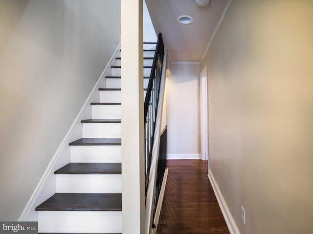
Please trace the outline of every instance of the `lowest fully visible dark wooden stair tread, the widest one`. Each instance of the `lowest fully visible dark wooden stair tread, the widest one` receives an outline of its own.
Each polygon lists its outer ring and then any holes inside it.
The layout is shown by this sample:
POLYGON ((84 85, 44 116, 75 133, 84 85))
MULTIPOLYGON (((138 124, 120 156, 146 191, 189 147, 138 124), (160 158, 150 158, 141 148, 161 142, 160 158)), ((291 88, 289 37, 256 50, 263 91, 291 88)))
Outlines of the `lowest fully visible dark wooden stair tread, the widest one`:
POLYGON ((55 193, 36 211, 122 211, 122 194, 55 193))

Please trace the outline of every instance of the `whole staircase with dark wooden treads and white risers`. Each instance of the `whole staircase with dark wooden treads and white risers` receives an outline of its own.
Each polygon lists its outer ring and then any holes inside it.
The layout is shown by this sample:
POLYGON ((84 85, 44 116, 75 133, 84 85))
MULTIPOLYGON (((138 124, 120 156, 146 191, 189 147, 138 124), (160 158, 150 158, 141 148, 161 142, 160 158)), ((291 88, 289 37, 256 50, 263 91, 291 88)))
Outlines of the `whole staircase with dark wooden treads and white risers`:
MULTIPOLYGON (((144 43, 144 88, 156 43, 144 43)), ((70 163, 56 170, 56 193, 36 208, 39 233, 122 232, 121 58, 116 57, 92 119, 69 144, 70 163)), ((127 155, 125 155, 127 156, 127 155)))

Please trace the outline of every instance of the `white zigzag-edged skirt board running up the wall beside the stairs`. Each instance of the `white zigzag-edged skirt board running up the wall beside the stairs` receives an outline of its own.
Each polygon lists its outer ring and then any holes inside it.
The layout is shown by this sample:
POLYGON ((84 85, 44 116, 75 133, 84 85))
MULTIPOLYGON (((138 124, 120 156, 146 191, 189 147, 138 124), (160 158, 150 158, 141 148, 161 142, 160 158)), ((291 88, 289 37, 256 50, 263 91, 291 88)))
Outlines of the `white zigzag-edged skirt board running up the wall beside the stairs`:
POLYGON ((53 155, 36 189, 34 190, 33 194, 28 200, 19 218, 19 221, 38 221, 38 212, 35 211, 35 208, 56 192, 56 176, 54 175, 54 171, 59 169, 61 166, 64 166, 70 162, 70 150, 69 150, 68 144, 82 137, 82 124, 80 121, 82 119, 91 118, 90 103, 97 102, 97 100, 99 99, 98 88, 100 86, 103 87, 103 84, 105 84, 102 78, 105 79, 105 76, 111 75, 110 68, 111 68, 111 65, 114 65, 113 64, 115 63, 114 59, 115 59, 116 54, 119 52, 119 50, 120 50, 120 43, 117 46, 115 52, 113 53, 106 68, 103 70, 97 83, 94 85, 84 106, 81 108, 72 126, 69 128, 59 148, 53 155))

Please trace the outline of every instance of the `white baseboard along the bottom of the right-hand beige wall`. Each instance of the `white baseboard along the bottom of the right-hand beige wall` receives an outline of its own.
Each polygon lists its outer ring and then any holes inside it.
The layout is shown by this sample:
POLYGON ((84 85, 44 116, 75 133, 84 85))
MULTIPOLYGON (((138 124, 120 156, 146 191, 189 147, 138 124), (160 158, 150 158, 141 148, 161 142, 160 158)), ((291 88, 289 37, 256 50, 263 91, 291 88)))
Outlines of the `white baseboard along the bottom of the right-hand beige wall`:
POLYGON ((214 175, 212 174, 211 170, 209 170, 209 174, 207 175, 209 177, 209 180, 211 182, 213 191, 215 193, 216 199, 219 203, 219 206, 221 208, 221 211, 223 213, 224 219, 226 221, 227 227, 229 229, 230 234, 240 234, 237 225, 227 207, 227 204, 224 200, 224 197, 220 191, 220 188, 218 184, 216 183, 216 180, 214 178, 214 175))

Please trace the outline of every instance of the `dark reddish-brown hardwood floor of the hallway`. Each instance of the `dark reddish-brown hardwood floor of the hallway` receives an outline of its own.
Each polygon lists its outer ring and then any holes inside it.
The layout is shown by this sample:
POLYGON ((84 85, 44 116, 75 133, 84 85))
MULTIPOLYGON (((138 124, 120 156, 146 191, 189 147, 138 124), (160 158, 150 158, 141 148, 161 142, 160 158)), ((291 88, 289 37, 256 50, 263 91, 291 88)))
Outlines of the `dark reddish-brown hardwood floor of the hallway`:
POLYGON ((207 162, 168 160, 156 234, 229 234, 207 177, 207 162))

